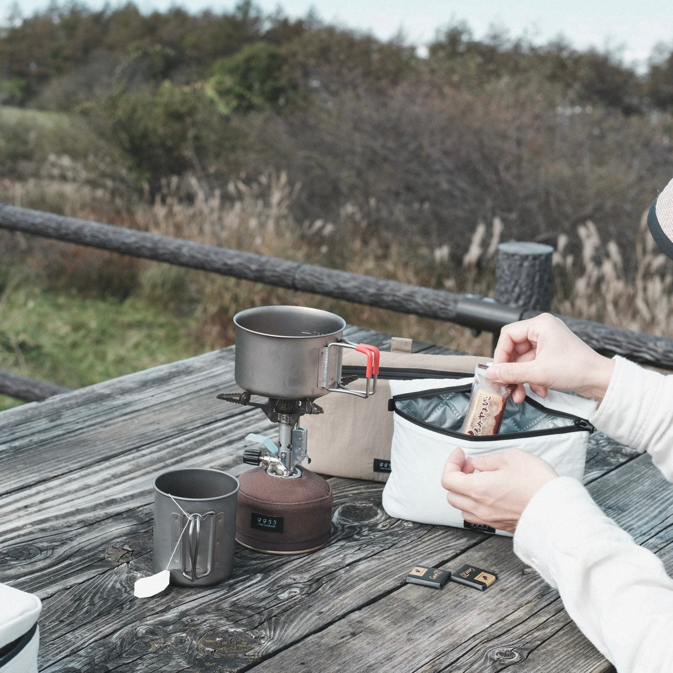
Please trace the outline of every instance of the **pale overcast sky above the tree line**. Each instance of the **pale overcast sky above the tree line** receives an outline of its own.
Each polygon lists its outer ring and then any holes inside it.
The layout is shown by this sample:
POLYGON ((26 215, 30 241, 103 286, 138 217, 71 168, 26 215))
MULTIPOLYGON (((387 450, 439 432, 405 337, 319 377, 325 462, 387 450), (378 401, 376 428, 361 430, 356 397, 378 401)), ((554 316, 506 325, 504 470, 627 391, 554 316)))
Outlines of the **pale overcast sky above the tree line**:
MULTIPOLYGON (((104 0, 86 4, 98 8, 104 0)), ((136 4, 141 11, 172 5, 221 11, 236 1, 136 0, 136 4)), ((408 42, 417 46, 432 40, 438 28, 460 21, 477 37, 496 24, 513 37, 526 34, 535 42, 563 34, 579 48, 623 47, 625 61, 641 67, 657 42, 673 46, 673 0, 257 0, 256 4, 268 12, 282 7, 291 17, 305 16, 315 7, 326 22, 371 31, 382 39, 402 29, 408 42)), ((47 5, 48 0, 20 2, 24 16, 47 5)), ((8 8, 9 1, 0 0, 0 6, 8 8)))

